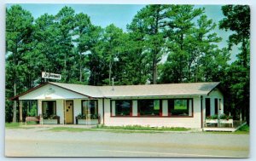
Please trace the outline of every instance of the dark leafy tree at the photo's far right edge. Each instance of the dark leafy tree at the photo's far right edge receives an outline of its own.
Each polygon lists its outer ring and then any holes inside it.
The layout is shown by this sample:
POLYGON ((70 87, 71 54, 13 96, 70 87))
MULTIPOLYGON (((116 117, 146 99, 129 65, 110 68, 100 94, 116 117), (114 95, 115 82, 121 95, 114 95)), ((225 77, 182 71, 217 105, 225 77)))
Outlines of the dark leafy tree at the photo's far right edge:
POLYGON ((227 71, 229 78, 225 83, 230 86, 232 108, 240 109, 240 118, 246 117, 249 123, 250 8, 247 5, 226 5, 222 7, 222 11, 225 17, 219 21, 219 28, 233 32, 229 37, 229 49, 241 44, 241 53, 236 55, 237 60, 227 71))

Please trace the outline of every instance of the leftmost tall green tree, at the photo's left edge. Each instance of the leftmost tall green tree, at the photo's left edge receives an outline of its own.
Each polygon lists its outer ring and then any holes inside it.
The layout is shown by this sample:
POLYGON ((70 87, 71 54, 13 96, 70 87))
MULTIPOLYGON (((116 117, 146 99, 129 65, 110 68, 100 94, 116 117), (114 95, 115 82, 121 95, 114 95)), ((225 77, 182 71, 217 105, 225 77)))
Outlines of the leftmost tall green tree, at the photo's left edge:
MULTIPOLYGON (((22 64, 22 55, 28 50, 28 43, 32 41, 32 14, 22 9, 19 5, 14 5, 6 11, 6 57, 9 72, 12 75, 7 75, 7 87, 9 83, 13 86, 13 93, 10 95, 17 95, 17 83, 19 83, 20 65, 22 64)), ((16 101, 14 102, 13 122, 16 122, 16 101)))

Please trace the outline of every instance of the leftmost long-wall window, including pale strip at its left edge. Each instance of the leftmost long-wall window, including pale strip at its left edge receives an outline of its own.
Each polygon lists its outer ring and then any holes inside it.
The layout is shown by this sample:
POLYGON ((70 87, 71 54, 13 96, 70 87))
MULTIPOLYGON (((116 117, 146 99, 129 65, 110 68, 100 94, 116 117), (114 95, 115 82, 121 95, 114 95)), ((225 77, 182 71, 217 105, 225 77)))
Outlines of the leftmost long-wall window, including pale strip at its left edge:
POLYGON ((130 100, 115 100, 112 101, 112 116, 130 116, 131 101, 130 100))

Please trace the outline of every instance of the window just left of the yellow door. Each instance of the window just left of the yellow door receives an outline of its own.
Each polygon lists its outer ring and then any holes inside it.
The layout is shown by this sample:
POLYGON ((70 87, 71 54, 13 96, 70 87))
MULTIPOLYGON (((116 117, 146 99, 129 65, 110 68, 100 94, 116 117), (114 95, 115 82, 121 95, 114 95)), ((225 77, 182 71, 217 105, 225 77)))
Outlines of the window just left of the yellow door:
POLYGON ((42 101, 43 104, 43 117, 50 118, 56 115, 56 101, 42 101))

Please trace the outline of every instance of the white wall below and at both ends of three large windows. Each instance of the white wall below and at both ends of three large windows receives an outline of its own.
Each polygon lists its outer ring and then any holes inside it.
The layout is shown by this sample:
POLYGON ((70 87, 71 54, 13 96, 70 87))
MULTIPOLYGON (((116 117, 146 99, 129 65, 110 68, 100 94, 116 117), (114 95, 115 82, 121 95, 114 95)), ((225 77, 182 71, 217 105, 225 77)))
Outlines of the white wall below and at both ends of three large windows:
POLYGON ((193 118, 143 118, 143 117, 110 117, 110 99, 105 99, 105 125, 143 125, 154 127, 184 127, 201 128, 201 97, 194 97, 194 117, 193 118))

